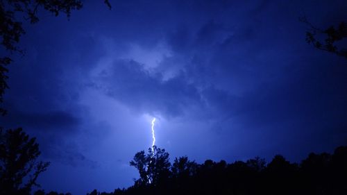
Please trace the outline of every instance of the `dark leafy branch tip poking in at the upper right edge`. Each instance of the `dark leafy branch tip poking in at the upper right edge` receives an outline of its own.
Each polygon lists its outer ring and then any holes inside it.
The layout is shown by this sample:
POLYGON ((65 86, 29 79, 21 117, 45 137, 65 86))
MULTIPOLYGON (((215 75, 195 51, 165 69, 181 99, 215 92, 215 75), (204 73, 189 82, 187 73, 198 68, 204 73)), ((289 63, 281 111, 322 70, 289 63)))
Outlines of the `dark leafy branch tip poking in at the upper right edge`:
POLYGON ((316 28, 316 26, 312 25, 308 22, 306 17, 300 18, 301 22, 307 24, 310 29, 306 32, 306 41, 309 44, 312 44, 316 49, 321 49, 323 51, 328 51, 331 53, 335 53, 337 56, 342 56, 347 58, 347 46, 346 46, 346 38, 347 38, 347 23, 340 22, 340 24, 335 26, 330 26, 326 29, 316 28), (339 42, 345 40, 345 45, 342 45, 343 48, 337 46, 339 42), (340 48, 339 48, 340 47, 340 48))

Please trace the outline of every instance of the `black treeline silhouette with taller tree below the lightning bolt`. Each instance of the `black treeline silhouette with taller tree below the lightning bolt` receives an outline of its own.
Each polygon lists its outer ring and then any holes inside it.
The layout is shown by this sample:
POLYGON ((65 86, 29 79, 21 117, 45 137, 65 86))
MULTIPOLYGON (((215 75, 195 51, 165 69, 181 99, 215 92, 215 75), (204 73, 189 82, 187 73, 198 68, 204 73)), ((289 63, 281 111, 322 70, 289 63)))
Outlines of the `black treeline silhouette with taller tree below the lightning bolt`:
POLYGON ((140 178, 128 189, 98 192, 89 195, 130 194, 331 194, 347 192, 347 146, 340 146, 332 155, 311 153, 300 164, 276 155, 266 164, 262 158, 235 161, 206 160, 203 164, 176 158, 169 166, 169 154, 155 147, 158 156, 149 149, 136 153, 130 165, 136 167, 140 178), (151 160, 155 166, 151 167, 151 160), (161 167, 161 168, 160 168, 161 167), (162 168, 164 167, 164 168, 162 168), (169 169, 170 168, 170 169, 169 169), (155 171, 153 170, 155 169, 155 171), (169 172, 168 172, 169 171, 169 172), (164 178, 156 181, 153 173, 164 178), (149 183, 149 178, 152 182, 149 183))

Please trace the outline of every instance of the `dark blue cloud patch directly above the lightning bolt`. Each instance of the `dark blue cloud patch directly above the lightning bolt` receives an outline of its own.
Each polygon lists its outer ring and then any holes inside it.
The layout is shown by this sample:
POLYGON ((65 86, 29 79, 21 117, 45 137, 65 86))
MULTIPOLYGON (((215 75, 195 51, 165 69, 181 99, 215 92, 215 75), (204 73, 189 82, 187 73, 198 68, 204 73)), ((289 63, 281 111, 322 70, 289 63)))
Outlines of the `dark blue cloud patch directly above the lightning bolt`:
POLYGON ((189 107, 200 104, 194 85, 183 74, 163 80, 161 74, 151 74, 134 60, 117 60, 110 69, 101 71, 96 83, 109 96, 130 108, 168 117, 183 115, 189 107))

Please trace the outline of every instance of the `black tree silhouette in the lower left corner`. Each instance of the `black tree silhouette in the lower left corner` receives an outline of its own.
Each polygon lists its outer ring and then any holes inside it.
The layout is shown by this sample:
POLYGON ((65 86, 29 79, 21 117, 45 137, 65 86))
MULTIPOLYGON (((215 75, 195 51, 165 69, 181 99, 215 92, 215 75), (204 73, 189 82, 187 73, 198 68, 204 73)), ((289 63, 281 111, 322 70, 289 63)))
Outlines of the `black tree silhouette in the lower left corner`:
POLYGON ((40 155, 35 138, 22 128, 0 131, 0 194, 29 194, 37 177, 49 162, 37 161, 40 155))

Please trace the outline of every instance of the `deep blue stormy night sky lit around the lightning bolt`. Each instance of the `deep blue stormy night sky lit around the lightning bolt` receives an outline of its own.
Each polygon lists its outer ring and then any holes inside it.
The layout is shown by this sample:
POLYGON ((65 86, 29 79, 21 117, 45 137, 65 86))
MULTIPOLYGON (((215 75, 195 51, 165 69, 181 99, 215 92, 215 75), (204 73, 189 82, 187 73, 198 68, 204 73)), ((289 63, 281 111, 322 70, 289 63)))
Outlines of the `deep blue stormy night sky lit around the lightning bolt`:
POLYGON ((305 41, 306 16, 328 28, 346 1, 86 1, 24 24, 6 117, 51 162, 46 192, 133 185, 152 144, 201 163, 300 162, 347 144, 347 60, 305 41))

